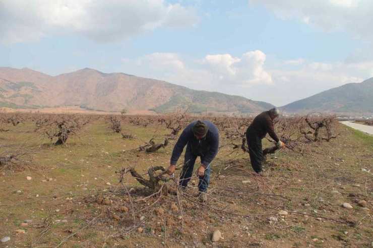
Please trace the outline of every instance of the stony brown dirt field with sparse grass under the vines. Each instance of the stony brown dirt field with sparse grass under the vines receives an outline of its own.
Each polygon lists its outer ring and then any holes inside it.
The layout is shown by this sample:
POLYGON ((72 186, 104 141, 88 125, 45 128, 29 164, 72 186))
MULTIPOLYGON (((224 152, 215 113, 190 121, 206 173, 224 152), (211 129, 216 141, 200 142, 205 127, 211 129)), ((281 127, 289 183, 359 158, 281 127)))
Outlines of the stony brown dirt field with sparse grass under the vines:
POLYGON ((175 140, 153 153, 137 150, 166 128, 126 124, 134 138, 123 139, 101 118, 54 146, 35 123, 20 123, 0 132, 0 156, 21 145, 34 153, 31 162, 26 155, 1 167, 0 238, 10 240, 0 247, 371 247, 373 137, 339 128, 324 153, 270 155, 268 178, 253 175, 247 153, 222 146, 201 203, 196 176, 183 195, 162 197, 149 197, 130 175, 119 183, 122 168, 168 167, 175 140), (215 230, 222 238, 212 242, 215 230))

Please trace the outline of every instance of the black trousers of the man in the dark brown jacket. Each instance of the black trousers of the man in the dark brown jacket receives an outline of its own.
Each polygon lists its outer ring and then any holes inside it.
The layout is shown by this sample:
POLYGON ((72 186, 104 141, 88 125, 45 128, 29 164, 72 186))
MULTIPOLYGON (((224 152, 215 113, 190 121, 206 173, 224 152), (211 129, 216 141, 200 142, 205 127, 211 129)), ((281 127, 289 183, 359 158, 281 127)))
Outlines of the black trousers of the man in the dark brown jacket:
POLYGON ((256 173, 262 171, 263 148, 261 137, 246 132, 248 154, 250 154, 251 166, 256 173))

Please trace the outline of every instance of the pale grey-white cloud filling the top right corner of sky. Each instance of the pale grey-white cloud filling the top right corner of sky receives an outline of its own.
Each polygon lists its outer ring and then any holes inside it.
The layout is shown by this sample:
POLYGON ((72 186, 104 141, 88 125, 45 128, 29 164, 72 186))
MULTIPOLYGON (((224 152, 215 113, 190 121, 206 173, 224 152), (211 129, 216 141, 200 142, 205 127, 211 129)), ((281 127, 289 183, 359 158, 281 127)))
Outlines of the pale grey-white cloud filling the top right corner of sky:
POLYGON ((296 19, 318 29, 345 31, 370 42, 373 37, 371 0, 248 0, 251 7, 263 5, 279 18, 296 19))

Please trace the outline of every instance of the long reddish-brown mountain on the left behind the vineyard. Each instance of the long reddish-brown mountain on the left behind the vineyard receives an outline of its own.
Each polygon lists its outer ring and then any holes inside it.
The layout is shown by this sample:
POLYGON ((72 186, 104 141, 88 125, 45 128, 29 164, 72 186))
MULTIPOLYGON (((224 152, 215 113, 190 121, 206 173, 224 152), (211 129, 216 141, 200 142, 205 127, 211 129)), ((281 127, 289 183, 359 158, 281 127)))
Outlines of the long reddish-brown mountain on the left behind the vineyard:
POLYGON ((80 106, 88 110, 153 110, 189 108, 202 111, 260 113, 273 105, 217 92, 196 91, 169 82, 125 73, 81 69, 50 76, 28 68, 0 67, 0 107, 80 106))

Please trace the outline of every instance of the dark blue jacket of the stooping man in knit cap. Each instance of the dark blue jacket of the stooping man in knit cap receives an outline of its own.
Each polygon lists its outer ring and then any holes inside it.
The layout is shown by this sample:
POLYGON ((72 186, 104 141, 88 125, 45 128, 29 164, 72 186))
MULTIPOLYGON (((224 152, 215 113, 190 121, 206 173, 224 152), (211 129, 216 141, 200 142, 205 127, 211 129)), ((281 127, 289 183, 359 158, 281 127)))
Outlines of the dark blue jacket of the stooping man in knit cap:
POLYGON ((192 122, 184 131, 182 131, 179 139, 177 140, 175 146, 173 147, 171 164, 176 164, 179 159, 182 150, 185 145, 187 146, 186 152, 191 152, 193 155, 204 157, 204 164, 208 166, 212 160, 215 158, 219 150, 219 131, 218 128, 211 122, 202 120, 207 124, 209 130, 207 134, 202 139, 197 139, 192 132, 192 128, 197 121, 192 122))

